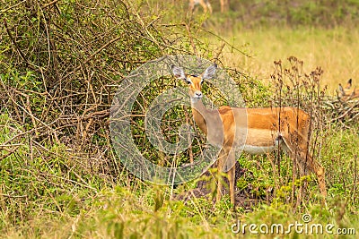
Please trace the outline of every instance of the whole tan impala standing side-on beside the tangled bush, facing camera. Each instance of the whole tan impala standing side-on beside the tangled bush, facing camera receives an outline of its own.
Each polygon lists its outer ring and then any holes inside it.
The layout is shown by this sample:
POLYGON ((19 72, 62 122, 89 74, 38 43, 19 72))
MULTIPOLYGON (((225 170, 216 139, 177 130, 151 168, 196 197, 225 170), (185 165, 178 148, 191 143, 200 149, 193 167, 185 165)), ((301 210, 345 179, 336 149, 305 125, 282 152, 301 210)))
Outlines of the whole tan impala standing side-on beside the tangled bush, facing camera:
MULTIPOLYGON (((202 102, 201 85, 215 75, 216 64, 209 66, 199 76, 184 72, 179 66, 171 66, 172 73, 188 83, 192 114, 208 143, 221 147, 217 162, 220 176, 227 172, 231 203, 235 203, 235 154, 239 148, 250 154, 266 154, 283 149, 299 166, 301 175, 308 169, 317 177, 320 193, 327 195, 324 167, 309 153, 310 115, 295 107, 241 108, 219 107, 207 109, 202 102)), ((222 198, 222 180, 218 180, 216 200, 222 198)))

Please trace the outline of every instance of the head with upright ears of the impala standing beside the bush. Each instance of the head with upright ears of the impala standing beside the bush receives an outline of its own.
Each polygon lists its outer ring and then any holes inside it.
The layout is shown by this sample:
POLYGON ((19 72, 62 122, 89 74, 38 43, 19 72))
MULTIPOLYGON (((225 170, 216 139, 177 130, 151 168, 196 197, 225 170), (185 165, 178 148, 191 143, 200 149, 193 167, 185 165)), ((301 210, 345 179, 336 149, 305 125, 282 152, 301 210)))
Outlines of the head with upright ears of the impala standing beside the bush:
POLYGON ((201 73, 200 75, 185 73, 183 68, 175 65, 172 65, 171 68, 172 68, 172 73, 176 78, 186 81, 189 88, 189 96, 192 102, 197 102, 199 99, 203 97, 201 91, 202 83, 206 79, 211 79, 215 75, 215 70, 217 69, 217 65, 213 64, 209 66, 206 69, 206 71, 201 73))

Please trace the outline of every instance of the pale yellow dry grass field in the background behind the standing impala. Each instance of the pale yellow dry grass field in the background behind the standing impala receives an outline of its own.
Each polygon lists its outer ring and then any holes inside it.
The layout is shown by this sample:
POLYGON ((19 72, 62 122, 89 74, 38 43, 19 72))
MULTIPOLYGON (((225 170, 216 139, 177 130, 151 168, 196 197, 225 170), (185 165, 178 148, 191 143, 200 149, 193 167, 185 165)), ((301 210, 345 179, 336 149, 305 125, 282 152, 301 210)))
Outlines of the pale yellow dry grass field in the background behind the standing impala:
MULTIPOLYGON (((347 29, 266 29, 239 30, 224 37, 233 47, 251 57, 242 55, 230 47, 223 49, 223 64, 236 67, 269 81, 275 60, 287 63, 288 56, 296 56, 304 62, 303 71, 311 72, 320 66, 324 70, 322 85, 328 85, 328 94, 335 95, 338 83, 353 78, 359 85, 359 31, 347 29)), ((218 39, 211 42, 220 45, 218 39)))

